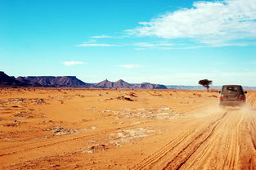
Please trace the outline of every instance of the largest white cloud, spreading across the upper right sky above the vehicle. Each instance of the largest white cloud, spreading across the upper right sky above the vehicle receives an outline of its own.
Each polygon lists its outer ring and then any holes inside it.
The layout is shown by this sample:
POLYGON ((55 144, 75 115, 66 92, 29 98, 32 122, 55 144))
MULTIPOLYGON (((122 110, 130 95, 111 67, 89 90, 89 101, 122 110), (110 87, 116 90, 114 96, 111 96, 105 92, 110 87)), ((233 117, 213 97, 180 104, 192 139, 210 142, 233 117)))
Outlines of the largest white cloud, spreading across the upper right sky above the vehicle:
POLYGON ((193 8, 167 12, 139 24, 128 32, 139 37, 191 38, 213 46, 236 45, 227 42, 256 38, 256 0, 194 2, 193 8))

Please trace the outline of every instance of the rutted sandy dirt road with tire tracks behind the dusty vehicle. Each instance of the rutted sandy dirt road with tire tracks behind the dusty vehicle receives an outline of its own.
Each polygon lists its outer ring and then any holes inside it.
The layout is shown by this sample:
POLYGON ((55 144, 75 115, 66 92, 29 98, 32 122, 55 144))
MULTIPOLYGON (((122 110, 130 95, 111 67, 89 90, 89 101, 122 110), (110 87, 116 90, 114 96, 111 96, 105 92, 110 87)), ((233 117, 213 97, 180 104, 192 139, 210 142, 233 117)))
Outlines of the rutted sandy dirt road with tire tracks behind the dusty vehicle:
POLYGON ((227 109, 191 125, 134 169, 255 169, 255 110, 227 109))

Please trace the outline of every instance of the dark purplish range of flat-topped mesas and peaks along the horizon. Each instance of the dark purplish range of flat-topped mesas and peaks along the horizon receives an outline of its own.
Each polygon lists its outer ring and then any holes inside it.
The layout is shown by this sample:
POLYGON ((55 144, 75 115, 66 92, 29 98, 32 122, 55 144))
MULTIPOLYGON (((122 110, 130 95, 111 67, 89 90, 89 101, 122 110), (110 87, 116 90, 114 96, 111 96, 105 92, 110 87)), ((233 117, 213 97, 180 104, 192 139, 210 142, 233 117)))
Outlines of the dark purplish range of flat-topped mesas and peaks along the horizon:
POLYGON ((152 83, 130 84, 122 79, 117 82, 110 82, 108 79, 100 83, 84 83, 75 76, 27 76, 10 77, 0 72, 1 87, 85 87, 85 88, 124 88, 124 89, 167 89, 166 86, 152 83))

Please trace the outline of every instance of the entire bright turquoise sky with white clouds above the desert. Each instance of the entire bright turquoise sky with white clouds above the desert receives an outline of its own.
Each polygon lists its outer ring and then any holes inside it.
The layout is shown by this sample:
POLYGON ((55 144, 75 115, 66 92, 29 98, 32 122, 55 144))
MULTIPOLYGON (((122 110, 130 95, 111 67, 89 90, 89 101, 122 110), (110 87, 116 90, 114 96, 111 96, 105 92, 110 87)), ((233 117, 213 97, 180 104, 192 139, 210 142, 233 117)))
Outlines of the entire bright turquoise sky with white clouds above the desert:
POLYGON ((256 0, 1 0, 0 69, 256 86, 256 0))

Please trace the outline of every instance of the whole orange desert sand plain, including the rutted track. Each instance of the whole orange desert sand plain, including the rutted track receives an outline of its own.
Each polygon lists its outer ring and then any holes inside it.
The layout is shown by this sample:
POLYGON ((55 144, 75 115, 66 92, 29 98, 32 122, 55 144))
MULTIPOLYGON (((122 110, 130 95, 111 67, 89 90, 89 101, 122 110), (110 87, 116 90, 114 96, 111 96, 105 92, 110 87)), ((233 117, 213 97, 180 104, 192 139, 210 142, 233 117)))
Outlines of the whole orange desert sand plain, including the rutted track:
POLYGON ((256 92, 0 89, 0 169, 256 169, 256 92))

